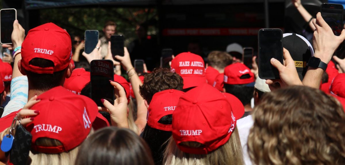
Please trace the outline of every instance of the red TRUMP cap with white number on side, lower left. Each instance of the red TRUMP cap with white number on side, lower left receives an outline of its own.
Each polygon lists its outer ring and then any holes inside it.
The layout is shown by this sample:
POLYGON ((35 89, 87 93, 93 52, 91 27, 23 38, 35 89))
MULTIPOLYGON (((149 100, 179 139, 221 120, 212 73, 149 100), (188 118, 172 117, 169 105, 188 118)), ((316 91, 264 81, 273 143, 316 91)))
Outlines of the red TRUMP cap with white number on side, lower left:
POLYGON ((41 101, 31 107, 40 114, 26 126, 32 134, 33 151, 41 153, 68 152, 79 146, 89 135, 98 114, 95 102, 82 95, 75 95, 59 86, 41 94, 41 101), (38 146, 41 137, 59 140, 61 146, 38 146))

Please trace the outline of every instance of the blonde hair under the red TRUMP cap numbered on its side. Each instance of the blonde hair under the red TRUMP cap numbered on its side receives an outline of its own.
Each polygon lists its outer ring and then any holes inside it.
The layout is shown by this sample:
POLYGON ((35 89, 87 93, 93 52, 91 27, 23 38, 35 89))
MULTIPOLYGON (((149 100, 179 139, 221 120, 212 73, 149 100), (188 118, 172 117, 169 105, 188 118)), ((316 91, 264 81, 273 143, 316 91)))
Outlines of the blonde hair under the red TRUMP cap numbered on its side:
MULTIPOLYGON (((93 129, 90 130, 88 136, 93 133, 93 129)), ((46 137, 41 137, 36 140, 36 145, 39 146, 61 146, 62 143, 57 139, 51 139, 46 137)), ((81 144, 80 144, 81 145, 81 144)), ((79 146, 71 149, 68 152, 62 152, 59 154, 47 154, 32 152, 29 153, 29 159, 31 159, 30 165, 65 165, 65 164, 74 164, 77 158, 79 146)))

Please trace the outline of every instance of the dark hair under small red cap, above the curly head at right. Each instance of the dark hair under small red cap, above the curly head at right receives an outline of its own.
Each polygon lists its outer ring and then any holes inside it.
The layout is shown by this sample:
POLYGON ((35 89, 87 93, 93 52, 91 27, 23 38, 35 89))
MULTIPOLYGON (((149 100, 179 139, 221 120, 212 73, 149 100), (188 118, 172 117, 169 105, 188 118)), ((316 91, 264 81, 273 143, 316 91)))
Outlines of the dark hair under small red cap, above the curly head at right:
POLYGON ((229 85, 224 84, 226 93, 232 94, 237 97, 245 106, 250 104, 250 100, 253 98, 254 87, 247 87, 247 84, 229 85))

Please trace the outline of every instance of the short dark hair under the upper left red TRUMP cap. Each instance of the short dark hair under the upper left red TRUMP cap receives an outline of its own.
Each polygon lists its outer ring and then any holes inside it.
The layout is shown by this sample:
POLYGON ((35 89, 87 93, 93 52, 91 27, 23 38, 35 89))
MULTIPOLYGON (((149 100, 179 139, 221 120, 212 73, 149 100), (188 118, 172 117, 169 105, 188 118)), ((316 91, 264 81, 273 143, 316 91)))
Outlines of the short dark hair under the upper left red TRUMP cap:
MULTIPOLYGON (((43 59, 43 58, 33 58, 29 62, 29 64, 33 66, 37 66, 37 67, 42 67, 42 68, 54 67, 53 61, 43 59)), ((60 71, 56 71, 53 74, 38 74, 32 71, 26 70, 26 74, 28 77, 30 87, 32 89, 49 90, 51 88, 61 85, 62 79, 64 79, 66 76, 65 72, 67 69, 68 67, 60 71)))

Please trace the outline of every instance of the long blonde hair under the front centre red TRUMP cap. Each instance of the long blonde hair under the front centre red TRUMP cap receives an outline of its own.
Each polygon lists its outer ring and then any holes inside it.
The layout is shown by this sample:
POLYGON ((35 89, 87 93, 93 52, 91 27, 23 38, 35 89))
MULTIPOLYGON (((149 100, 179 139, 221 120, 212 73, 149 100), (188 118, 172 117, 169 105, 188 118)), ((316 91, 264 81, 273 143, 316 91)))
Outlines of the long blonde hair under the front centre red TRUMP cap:
MULTIPOLYGON (((190 147, 200 147, 197 142, 183 143, 190 147)), ((168 146, 164 152, 165 165, 243 165, 242 147, 235 128, 227 143, 209 154, 189 154, 182 152, 175 143, 174 138, 170 138, 168 146)))

